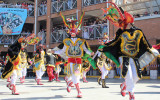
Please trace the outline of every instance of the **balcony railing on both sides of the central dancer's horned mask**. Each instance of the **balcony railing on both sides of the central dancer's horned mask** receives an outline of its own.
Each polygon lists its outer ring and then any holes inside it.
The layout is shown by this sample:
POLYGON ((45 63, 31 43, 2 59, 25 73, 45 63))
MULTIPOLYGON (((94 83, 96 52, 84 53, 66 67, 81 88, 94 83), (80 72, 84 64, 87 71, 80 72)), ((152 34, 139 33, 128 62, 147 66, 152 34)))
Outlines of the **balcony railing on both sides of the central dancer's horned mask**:
MULTIPOLYGON (((103 38, 104 33, 108 33, 107 23, 82 27, 82 38, 87 40, 103 38)), ((51 33, 50 43, 61 43, 68 37, 69 34, 66 29, 56 30, 51 33)))

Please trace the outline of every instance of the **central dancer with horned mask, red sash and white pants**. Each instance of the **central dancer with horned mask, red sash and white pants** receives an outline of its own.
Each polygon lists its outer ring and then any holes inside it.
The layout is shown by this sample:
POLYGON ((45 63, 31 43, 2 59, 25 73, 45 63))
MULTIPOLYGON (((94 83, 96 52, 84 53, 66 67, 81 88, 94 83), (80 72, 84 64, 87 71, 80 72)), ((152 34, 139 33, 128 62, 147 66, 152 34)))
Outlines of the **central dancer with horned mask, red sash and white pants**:
MULTIPOLYGON (((61 14, 61 13, 60 13, 61 14)), ((67 82, 67 91, 71 91, 71 86, 74 83, 76 86, 76 89, 78 91, 78 98, 82 97, 82 93, 79 88, 79 82, 80 82, 80 74, 82 70, 82 60, 81 58, 83 57, 83 52, 85 51, 89 55, 93 55, 94 53, 90 52, 86 48, 86 41, 80 38, 77 38, 76 35, 79 33, 79 29, 82 23, 82 18, 84 16, 81 16, 80 22, 78 25, 75 25, 77 20, 75 19, 69 19, 67 18, 67 21, 69 22, 70 25, 66 23, 66 20, 64 16, 61 14, 63 18, 63 22, 65 26, 69 29, 69 33, 71 35, 71 38, 66 38, 63 40, 62 49, 59 49, 57 51, 52 50, 53 53, 55 54, 63 54, 66 53, 66 57, 68 58, 68 66, 67 66, 67 75, 69 76, 68 82, 67 82), (73 81, 73 82, 72 82, 73 81)))

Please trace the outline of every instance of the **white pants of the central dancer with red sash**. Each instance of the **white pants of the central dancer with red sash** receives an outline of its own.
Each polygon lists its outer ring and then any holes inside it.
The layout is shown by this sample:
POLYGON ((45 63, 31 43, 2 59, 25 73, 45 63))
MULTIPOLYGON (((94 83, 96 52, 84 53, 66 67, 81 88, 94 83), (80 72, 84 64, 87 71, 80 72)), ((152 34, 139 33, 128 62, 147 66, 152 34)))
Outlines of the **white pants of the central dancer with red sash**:
MULTIPOLYGON (((81 65, 80 65, 81 66, 81 65)), ((69 77, 69 79, 73 81, 74 84, 80 83, 80 74, 79 75, 75 75, 73 73, 73 63, 70 63, 70 69, 71 69, 71 77, 69 77)), ((80 71, 80 70, 79 70, 80 71)), ((79 72, 80 73, 80 72, 79 72)))

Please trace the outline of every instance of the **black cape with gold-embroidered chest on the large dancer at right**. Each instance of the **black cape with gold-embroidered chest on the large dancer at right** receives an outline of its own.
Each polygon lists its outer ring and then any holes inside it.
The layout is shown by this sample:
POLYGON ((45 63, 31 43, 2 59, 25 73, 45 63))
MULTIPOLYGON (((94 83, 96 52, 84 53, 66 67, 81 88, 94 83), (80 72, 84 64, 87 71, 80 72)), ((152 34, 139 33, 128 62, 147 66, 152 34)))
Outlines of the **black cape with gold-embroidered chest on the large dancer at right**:
POLYGON ((119 29, 115 39, 100 46, 98 50, 111 59, 117 67, 120 66, 118 61, 120 56, 138 59, 140 67, 143 68, 159 55, 158 51, 149 44, 143 31, 138 28, 119 29))

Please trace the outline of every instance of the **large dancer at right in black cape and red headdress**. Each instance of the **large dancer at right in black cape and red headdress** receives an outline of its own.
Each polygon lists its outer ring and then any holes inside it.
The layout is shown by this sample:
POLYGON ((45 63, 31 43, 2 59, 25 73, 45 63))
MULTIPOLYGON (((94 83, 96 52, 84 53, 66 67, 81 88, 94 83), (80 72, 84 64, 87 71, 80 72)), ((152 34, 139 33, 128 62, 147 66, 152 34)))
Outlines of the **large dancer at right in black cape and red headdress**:
POLYGON ((141 70, 158 55, 158 51, 151 48, 141 29, 133 26, 134 18, 128 12, 119 9, 114 3, 107 10, 103 9, 105 19, 120 27, 113 41, 101 46, 99 51, 110 58, 117 67, 121 65, 121 74, 125 82, 120 85, 122 96, 128 91, 130 100, 135 100, 135 84, 141 79, 141 70), (107 14, 107 12, 109 12, 107 14), (132 27, 126 29, 128 24, 132 27), (119 59, 119 61, 118 61, 119 59))

